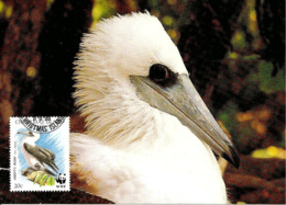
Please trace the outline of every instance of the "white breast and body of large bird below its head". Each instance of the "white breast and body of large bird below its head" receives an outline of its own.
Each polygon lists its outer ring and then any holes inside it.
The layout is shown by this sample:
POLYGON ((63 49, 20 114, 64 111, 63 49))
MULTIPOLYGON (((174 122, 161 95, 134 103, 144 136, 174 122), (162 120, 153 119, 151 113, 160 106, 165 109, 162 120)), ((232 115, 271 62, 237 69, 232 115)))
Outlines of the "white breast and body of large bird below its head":
POLYGON ((116 203, 227 203, 210 148, 185 126, 173 132, 127 149, 73 134, 72 172, 87 183, 81 189, 116 203))

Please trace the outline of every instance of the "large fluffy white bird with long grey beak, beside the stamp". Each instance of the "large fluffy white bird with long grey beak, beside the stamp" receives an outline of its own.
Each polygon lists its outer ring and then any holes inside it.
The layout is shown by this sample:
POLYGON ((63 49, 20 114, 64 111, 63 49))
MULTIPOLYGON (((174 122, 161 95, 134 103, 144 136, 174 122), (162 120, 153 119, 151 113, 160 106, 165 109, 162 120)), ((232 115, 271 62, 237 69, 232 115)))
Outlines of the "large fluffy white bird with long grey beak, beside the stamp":
MULTIPOLYGON (((105 20, 76 64, 85 134, 72 134, 73 186, 116 203, 227 203, 211 149, 239 158, 148 13, 105 20)), ((206 73, 207 75, 207 73, 206 73)))

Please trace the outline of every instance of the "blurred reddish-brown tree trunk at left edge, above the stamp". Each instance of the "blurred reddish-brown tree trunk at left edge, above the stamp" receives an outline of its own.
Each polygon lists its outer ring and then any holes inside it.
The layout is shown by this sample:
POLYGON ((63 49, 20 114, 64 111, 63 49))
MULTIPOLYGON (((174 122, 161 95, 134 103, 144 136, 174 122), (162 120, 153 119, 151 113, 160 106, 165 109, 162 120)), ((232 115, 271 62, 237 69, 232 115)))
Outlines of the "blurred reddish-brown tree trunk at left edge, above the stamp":
POLYGON ((45 10, 45 1, 13 2, 0 54, 0 135, 6 138, 10 116, 32 114, 41 61, 36 48, 45 10))

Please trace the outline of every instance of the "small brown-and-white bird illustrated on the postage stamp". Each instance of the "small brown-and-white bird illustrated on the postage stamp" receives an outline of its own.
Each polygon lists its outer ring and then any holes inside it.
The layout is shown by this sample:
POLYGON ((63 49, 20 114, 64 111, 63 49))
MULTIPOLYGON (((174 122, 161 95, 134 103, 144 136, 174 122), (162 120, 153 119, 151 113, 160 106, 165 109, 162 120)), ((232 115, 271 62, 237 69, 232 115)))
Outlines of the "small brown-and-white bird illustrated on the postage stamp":
MULTIPOLYGON (((56 175, 45 167, 45 164, 47 164, 55 172, 57 172, 58 167, 55 163, 55 153, 35 144, 35 141, 40 139, 40 134, 33 133, 31 130, 18 132, 18 134, 24 135, 23 139, 21 140, 21 150, 28 164, 34 171, 45 171, 52 175, 56 175)), ((29 171, 31 172, 31 169, 29 169, 29 171)), ((22 172, 22 174, 24 174, 24 172, 22 172)))

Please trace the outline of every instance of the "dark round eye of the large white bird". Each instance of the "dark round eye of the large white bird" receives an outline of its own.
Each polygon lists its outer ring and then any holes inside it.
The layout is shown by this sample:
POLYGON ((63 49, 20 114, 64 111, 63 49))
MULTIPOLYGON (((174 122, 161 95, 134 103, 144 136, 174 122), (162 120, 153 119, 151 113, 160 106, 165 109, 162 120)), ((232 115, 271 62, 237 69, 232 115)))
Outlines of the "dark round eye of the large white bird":
POLYGON ((152 65, 148 70, 148 77, 152 81, 163 87, 172 86, 177 80, 177 75, 162 64, 152 65))

